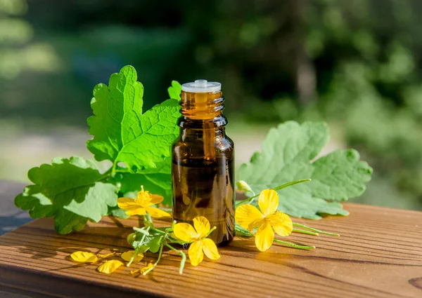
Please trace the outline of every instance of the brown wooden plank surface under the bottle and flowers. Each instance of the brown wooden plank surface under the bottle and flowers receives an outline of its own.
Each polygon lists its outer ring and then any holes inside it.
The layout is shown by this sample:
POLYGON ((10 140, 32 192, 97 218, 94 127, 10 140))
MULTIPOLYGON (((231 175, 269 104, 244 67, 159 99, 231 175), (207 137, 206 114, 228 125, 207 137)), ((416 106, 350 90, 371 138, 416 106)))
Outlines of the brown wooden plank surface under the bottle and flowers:
POLYGON ((51 219, 39 219, 0 237, 0 290, 32 297, 422 297, 422 212, 345 208, 349 217, 296 220, 341 234, 288 237, 315 250, 273 245, 258 252, 250 238, 236 237, 219 249, 221 259, 187 264, 183 276, 179 257, 167 251, 152 274, 138 278, 130 270, 153 262, 153 255, 111 275, 69 258, 77 250, 128 250, 125 238, 136 218, 105 217, 66 236, 54 232, 51 219))

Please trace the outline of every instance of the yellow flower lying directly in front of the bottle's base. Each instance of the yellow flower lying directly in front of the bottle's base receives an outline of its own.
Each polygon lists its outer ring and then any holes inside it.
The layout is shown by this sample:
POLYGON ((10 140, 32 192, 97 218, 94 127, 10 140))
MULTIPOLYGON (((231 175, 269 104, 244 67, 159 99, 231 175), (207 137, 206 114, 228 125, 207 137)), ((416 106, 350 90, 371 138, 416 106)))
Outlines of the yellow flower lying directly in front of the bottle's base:
POLYGON ((191 224, 176 224, 174 226, 174 236, 181 241, 191 242, 188 255, 193 266, 202 262, 204 253, 210 259, 219 259, 220 255, 217 246, 211 239, 205 238, 210 232, 210 222, 203 216, 195 217, 191 224), (195 228, 193 228, 195 226, 195 228))

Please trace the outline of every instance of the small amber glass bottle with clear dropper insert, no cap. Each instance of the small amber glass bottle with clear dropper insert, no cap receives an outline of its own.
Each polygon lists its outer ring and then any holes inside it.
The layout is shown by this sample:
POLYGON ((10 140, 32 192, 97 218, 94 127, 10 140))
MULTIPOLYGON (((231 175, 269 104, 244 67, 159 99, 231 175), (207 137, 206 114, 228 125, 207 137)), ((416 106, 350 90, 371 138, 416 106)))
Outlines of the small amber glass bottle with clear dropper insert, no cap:
POLYGON ((173 218, 206 217, 217 245, 234 237, 234 144, 226 136, 221 84, 197 80, 181 91, 180 137, 172 147, 173 218))

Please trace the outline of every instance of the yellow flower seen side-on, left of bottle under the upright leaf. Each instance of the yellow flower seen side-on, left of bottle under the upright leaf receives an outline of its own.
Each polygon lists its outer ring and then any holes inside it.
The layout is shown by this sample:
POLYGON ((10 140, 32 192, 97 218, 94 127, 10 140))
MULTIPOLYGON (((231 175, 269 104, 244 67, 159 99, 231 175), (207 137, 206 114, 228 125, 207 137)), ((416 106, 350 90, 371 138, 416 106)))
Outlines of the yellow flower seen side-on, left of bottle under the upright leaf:
POLYGON ((139 191, 137 198, 119 198, 117 205, 120 209, 126 210, 126 214, 131 215, 145 215, 148 212, 152 217, 165 217, 170 216, 165 211, 158 208, 151 207, 152 205, 161 203, 164 198, 155 194, 148 194, 148 191, 139 191))

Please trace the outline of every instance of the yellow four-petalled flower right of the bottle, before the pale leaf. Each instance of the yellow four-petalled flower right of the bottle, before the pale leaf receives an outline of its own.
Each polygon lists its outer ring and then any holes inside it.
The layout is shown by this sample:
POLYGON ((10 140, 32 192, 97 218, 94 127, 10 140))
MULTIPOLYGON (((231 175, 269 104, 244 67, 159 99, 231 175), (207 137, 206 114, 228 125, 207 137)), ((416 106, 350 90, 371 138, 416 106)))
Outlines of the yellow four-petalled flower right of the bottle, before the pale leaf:
POLYGON ((258 199, 260 210, 250 204, 240 205, 236 208, 236 222, 244 229, 253 231, 256 227, 255 245, 258 250, 268 250, 274 241, 274 232, 280 236, 288 236, 293 230, 292 219, 283 212, 277 211, 279 207, 279 194, 273 189, 261 191, 258 199))

